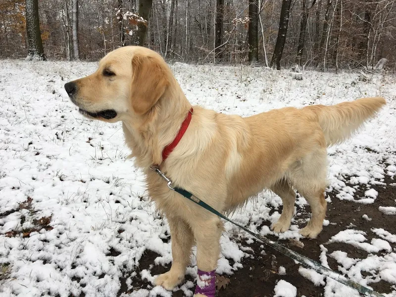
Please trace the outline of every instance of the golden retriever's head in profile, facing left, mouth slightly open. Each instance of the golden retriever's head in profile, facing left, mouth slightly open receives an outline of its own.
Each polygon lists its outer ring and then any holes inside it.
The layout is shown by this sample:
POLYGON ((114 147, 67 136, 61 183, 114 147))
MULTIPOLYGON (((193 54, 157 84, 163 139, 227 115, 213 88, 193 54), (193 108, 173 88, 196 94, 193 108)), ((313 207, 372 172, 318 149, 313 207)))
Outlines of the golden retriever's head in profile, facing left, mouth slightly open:
POLYGON ((64 87, 81 114, 116 122, 146 114, 164 94, 171 77, 159 54, 131 46, 111 51, 95 73, 64 87))

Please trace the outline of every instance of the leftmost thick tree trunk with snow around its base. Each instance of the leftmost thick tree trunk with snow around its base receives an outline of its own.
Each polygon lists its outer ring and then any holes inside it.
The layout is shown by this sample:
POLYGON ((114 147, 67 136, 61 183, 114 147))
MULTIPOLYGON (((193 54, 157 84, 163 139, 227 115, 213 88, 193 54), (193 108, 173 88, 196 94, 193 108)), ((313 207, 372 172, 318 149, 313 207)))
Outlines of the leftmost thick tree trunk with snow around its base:
POLYGON ((46 60, 40 35, 38 0, 26 0, 26 33, 28 37, 27 60, 46 60))

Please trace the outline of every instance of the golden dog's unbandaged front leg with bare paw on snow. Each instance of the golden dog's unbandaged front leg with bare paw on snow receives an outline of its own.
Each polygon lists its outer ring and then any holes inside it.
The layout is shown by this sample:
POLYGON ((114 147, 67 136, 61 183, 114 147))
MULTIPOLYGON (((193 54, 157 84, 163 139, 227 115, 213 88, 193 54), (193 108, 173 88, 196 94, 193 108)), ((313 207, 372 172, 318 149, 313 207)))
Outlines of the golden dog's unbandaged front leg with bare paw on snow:
POLYGON ((159 275, 154 283, 166 290, 172 290, 184 279, 186 267, 190 264, 191 247, 194 243, 193 232, 180 217, 167 217, 172 241, 172 266, 159 275))

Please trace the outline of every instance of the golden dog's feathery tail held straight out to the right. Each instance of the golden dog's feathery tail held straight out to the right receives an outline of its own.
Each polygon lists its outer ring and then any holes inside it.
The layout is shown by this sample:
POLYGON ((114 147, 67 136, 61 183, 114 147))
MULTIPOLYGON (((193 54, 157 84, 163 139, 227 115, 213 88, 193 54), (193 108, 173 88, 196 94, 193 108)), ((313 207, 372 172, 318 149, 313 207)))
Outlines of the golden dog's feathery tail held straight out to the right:
POLYGON ((323 130, 327 146, 341 143, 365 121, 374 117, 386 101, 382 97, 361 98, 340 104, 310 105, 303 110, 313 112, 323 130))

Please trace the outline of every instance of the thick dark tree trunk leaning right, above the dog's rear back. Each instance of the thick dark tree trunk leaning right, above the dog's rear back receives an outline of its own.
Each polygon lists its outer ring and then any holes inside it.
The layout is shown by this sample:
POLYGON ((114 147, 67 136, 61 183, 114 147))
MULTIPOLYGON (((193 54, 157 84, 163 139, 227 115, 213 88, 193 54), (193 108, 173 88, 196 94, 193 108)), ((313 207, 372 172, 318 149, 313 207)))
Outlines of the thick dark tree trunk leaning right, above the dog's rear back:
POLYGON ((285 48, 286 34, 288 33, 289 13, 290 13, 291 4, 292 4, 292 0, 282 1, 278 37, 276 39, 274 54, 272 55, 271 65, 270 65, 272 67, 274 64, 276 64, 276 69, 278 70, 281 69, 281 59, 282 59, 283 49, 285 48))

